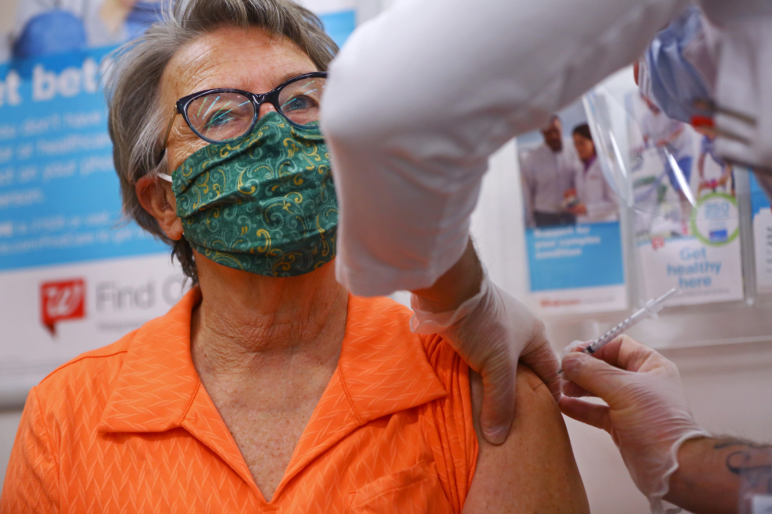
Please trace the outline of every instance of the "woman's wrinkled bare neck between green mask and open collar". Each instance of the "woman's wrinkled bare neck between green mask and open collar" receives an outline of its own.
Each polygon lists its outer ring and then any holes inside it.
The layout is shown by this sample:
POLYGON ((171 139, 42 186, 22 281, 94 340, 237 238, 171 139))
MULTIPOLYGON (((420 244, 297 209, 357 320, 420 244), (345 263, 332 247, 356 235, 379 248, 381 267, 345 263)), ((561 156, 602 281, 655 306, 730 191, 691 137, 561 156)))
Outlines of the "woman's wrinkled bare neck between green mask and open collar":
POLYGON ((201 304, 191 319, 191 353, 201 371, 253 372, 299 354, 337 363, 348 293, 334 264, 298 277, 263 277, 196 254, 201 304))

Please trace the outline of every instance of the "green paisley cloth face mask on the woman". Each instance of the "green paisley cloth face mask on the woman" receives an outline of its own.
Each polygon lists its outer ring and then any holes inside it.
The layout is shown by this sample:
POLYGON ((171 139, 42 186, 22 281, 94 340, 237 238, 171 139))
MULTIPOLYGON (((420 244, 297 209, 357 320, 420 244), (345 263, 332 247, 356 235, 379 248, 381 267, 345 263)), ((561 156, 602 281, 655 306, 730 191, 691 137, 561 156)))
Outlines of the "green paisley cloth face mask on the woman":
POLYGON ((335 257, 337 199, 317 127, 267 113, 242 139, 199 149, 172 181, 185 239, 217 264, 295 277, 335 257))

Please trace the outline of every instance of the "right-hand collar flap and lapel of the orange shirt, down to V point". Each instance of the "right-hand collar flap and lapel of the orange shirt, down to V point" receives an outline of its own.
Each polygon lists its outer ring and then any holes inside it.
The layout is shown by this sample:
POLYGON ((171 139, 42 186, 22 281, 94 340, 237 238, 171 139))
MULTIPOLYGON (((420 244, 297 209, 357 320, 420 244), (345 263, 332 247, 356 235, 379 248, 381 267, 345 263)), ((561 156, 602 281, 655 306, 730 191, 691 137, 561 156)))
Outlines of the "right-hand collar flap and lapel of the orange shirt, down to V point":
POLYGON ((349 296, 337 370, 300 436, 275 497, 304 466, 357 427, 446 395, 422 338, 408 328, 409 318, 407 308, 388 298, 349 296))

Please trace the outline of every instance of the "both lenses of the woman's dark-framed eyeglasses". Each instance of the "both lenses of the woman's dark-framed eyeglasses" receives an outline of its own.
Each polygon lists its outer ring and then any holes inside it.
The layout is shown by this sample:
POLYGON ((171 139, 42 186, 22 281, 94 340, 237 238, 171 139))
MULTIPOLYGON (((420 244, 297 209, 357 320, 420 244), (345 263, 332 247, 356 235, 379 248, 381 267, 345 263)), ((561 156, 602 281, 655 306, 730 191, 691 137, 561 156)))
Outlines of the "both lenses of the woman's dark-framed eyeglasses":
MULTIPOLYGON (((290 82, 279 92, 279 107, 287 119, 301 126, 319 122, 325 79, 310 77, 290 82)), ((215 92, 188 105, 188 120, 201 136, 225 142, 243 136, 252 126, 255 106, 237 92, 215 92)))

